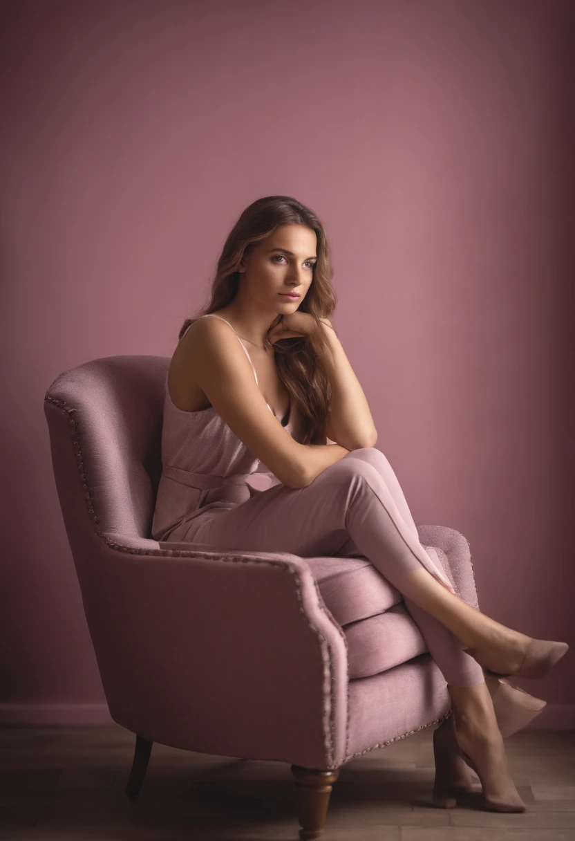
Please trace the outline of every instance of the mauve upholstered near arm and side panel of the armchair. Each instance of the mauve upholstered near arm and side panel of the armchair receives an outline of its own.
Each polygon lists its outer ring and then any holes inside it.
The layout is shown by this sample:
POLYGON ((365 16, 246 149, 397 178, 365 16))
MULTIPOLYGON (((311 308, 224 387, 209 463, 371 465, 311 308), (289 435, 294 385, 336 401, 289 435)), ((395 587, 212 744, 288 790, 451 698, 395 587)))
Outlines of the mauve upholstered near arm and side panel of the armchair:
POLYGON ((308 564, 191 546, 103 537, 76 563, 113 720, 210 754, 340 762, 346 637, 308 564))

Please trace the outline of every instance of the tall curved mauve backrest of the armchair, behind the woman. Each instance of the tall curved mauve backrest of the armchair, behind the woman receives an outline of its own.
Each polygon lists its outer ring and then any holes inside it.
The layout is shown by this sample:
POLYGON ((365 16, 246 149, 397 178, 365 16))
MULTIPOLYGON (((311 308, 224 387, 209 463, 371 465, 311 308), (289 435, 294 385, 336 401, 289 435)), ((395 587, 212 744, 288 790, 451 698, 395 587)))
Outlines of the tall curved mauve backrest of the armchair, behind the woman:
POLYGON ((150 537, 161 476, 168 357, 103 357, 61 373, 45 394, 66 532, 150 537), (73 520, 72 520, 73 518, 73 520))

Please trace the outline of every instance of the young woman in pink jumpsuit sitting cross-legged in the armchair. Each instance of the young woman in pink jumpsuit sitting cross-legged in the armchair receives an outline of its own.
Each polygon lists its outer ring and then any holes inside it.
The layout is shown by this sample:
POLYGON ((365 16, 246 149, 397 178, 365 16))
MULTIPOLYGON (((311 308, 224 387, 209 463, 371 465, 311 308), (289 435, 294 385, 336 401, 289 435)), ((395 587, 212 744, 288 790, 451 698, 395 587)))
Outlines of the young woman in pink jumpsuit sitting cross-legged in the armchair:
POLYGON ((434 732, 435 805, 456 805, 471 766, 485 808, 524 812, 503 737, 545 701, 496 675, 542 677, 567 643, 477 611, 419 542, 330 321, 331 277, 323 227, 303 204, 272 196, 241 214, 206 312, 184 322, 171 360, 152 537, 303 557, 352 545, 404 595, 447 681, 454 714, 434 732), (260 461, 277 478, 263 491, 246 482, 260 461))

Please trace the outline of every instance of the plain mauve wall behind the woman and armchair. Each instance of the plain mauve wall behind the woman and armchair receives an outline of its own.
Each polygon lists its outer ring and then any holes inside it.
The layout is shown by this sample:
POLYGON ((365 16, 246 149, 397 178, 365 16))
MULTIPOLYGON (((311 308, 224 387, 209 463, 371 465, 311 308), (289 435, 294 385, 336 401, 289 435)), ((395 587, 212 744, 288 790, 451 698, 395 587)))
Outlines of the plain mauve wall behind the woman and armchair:
MULTIPOLYGON (((467 537, 483 611, 573 643, 572 8, 3 3, 1 721, 108 721, 46 389, 171 356, 272 193, 324 222, 415 521, 467 537)), ((572 652, 521 685, 573 725, 572 652)))

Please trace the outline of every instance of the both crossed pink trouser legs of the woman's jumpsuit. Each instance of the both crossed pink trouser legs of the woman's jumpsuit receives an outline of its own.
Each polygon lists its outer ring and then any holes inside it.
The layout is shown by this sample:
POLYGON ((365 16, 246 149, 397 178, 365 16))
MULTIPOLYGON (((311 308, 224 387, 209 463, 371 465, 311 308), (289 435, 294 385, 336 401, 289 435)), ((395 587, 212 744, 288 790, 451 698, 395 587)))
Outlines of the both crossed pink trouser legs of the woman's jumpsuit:
POLYGON ((277 484, 231 510, 207 512, 178 540, 221 548, 291 552, 305 557, 336 554, 353 542, 404 596, 432 658, 448 684, 472 686, 485 680, 483 668, 440 621, 412 600, 409 577, 422 566, 452 592, 439 558, 425 551, 404 493, 376 447, 347 453, 306 488, 277 484))

